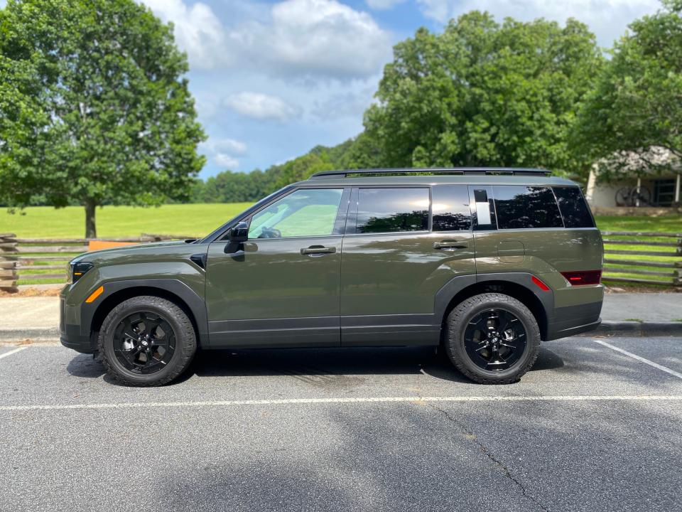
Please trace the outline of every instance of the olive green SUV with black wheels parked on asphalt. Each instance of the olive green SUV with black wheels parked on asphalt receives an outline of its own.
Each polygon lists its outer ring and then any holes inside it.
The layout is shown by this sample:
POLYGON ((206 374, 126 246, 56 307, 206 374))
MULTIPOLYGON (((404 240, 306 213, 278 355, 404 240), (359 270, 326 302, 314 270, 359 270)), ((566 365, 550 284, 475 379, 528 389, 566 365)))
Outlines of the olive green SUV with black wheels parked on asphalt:
POLYGON ((88 252, 63 345, 128 385, 197 348, 440 346, 511 383, 541 340, 600 323, 602 238, 577 184, 538 169, 326 171, 201 240, 88 252))

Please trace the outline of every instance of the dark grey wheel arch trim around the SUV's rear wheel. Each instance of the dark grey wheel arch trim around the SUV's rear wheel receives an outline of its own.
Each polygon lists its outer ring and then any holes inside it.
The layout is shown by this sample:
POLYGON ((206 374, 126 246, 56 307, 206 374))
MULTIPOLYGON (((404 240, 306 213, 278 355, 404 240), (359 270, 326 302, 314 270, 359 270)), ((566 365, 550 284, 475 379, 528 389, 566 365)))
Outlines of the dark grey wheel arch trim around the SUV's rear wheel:
POLYGON ((541 339, 546 340, 551 311, 554 307, 554 295, 551 290, 539 289, 531 280, 533 274, 509 272, 507 274, 480 274, 463 277, 469 279, 455 278, 440 289, 436 295, 436 318, 440 318, 441 329, 444 328, 450 311, 462 301, 474 295, 496 292, 514 297, 530 309, 538 322, 541 339), (537 292, 533 287, 537 288, 537 292))

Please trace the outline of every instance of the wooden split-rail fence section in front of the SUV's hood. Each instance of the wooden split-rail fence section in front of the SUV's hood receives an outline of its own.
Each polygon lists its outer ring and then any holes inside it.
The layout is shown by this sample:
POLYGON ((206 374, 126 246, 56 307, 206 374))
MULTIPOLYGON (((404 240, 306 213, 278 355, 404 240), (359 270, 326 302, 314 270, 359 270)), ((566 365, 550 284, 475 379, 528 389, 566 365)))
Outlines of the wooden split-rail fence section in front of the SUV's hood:
POLYGON ((182 238, 190 237, 143 234, 139 238, 17 238, 14 233, 0 233, 0 289, 16 292, 20 280, 22 284, 39 279, 65 281, 67 262, 86 252, 93 240, 147 243, 182 238))

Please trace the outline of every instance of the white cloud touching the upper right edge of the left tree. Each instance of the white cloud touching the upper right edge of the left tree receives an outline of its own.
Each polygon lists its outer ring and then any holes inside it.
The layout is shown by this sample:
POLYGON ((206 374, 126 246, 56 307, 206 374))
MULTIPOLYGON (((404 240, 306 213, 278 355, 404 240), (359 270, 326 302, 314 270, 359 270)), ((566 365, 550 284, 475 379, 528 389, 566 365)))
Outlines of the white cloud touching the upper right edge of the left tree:
POLYGON ((202 2, 187 6, 183 0, 143 3, 162 21, 173 22, 175 41, 187 52, 193 69, 212 69, 231 60, 224 26, 210 6, 202 2))

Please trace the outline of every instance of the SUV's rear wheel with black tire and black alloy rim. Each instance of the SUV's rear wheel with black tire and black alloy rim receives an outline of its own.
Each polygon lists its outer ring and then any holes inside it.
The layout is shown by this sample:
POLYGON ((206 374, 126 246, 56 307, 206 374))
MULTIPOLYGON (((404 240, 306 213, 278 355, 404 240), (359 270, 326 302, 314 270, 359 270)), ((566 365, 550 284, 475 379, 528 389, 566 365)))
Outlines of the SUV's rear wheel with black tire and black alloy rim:
POLYGON ((486 293, 466 299, 450 312, 446 329, 448 358, 477 383, 514 383, 538 358, 538 323, 509 295, 486 293))

